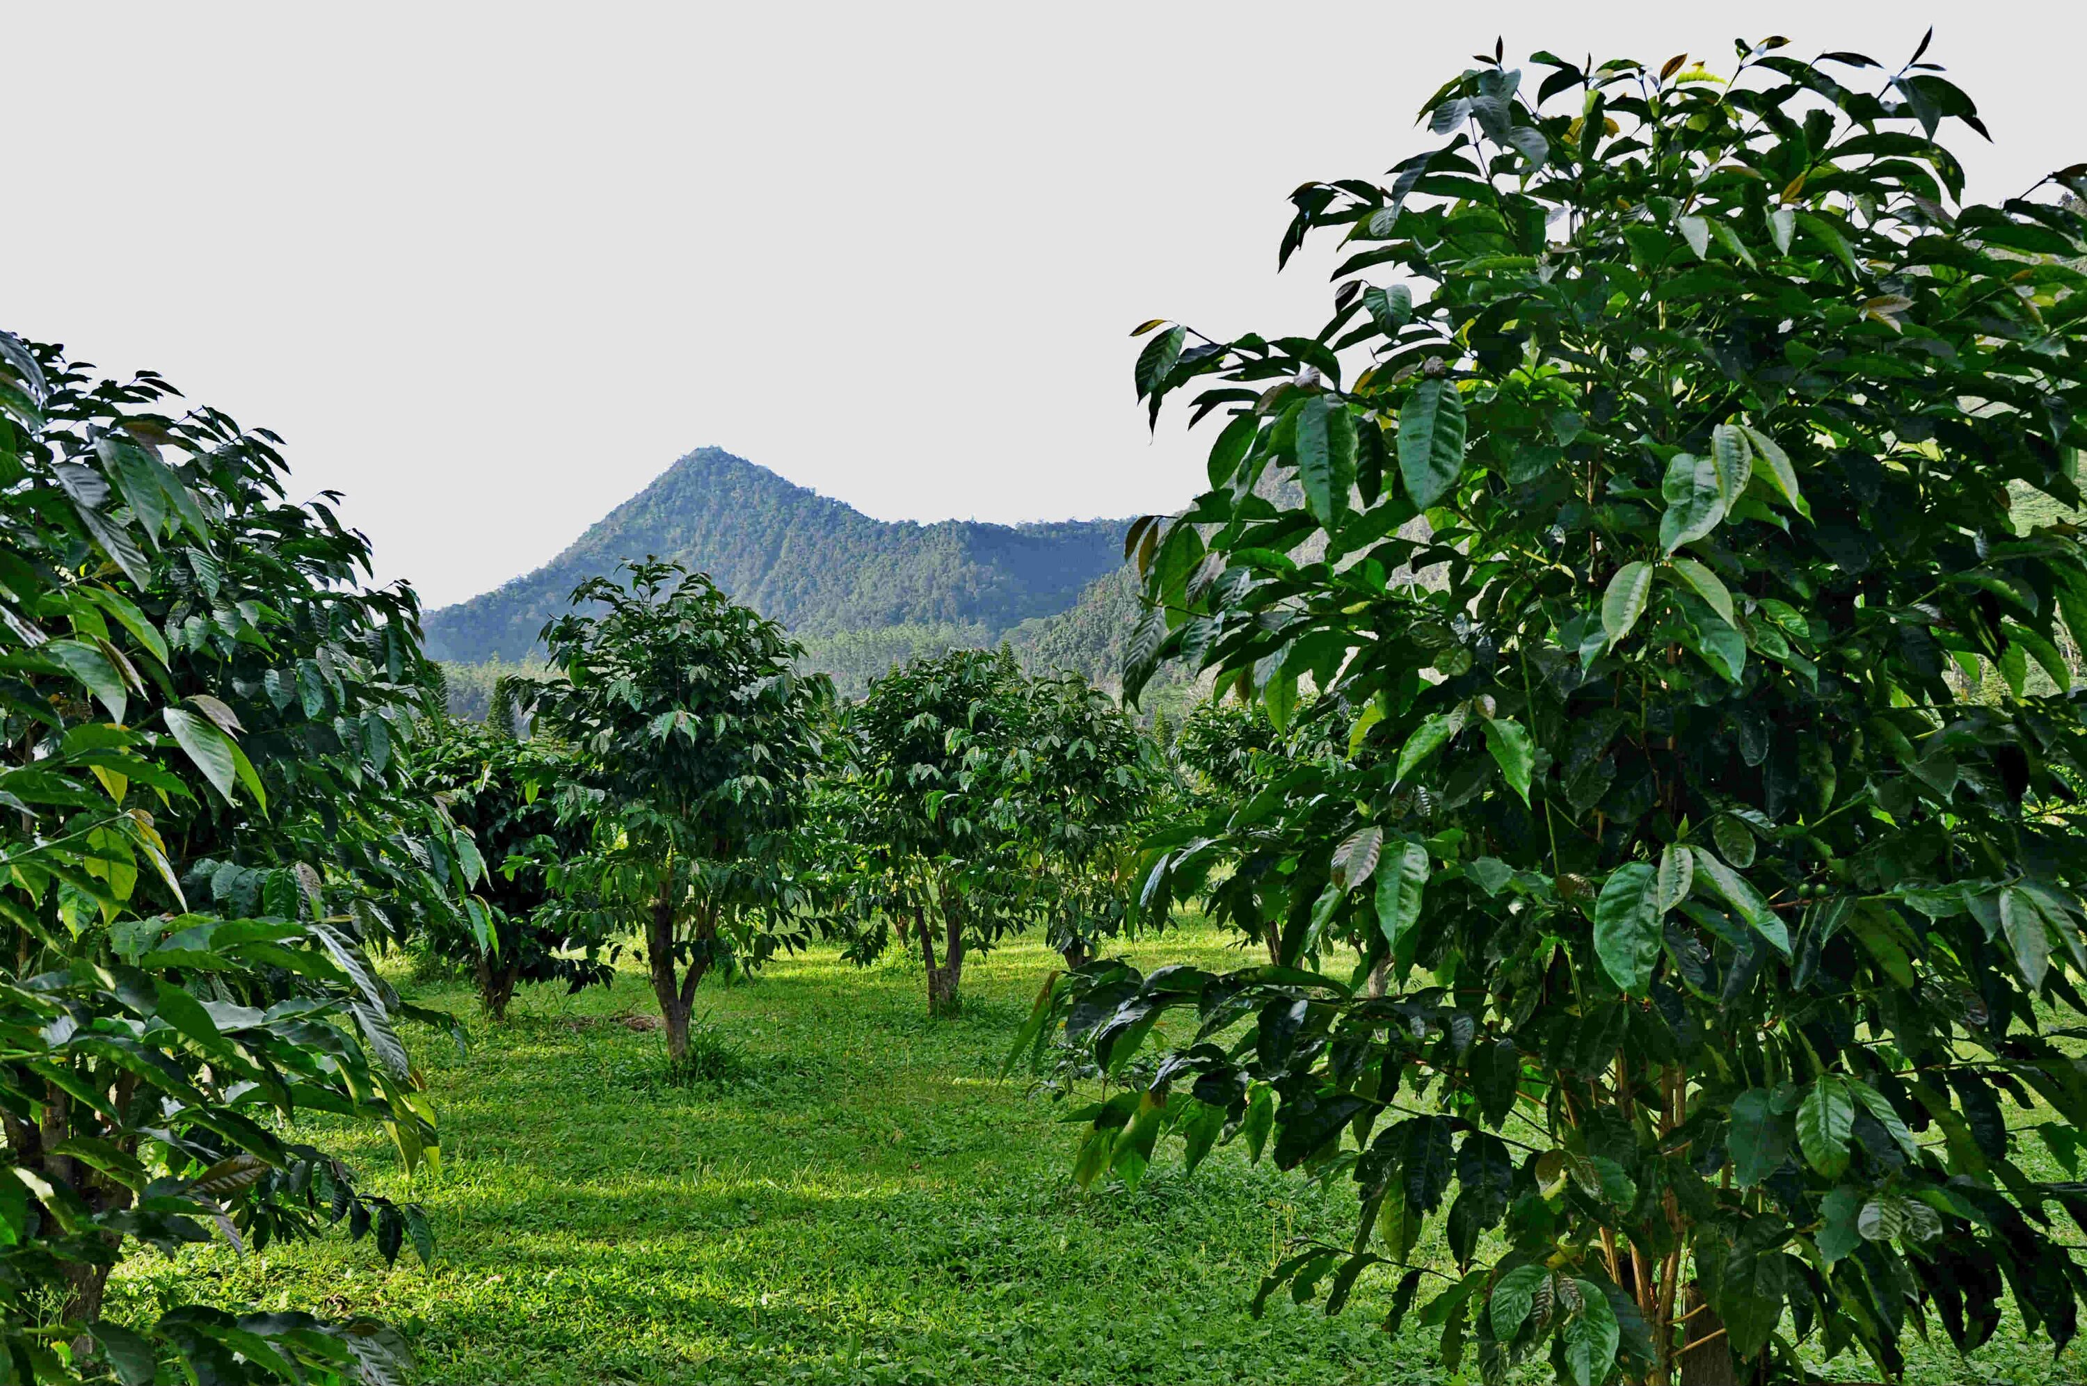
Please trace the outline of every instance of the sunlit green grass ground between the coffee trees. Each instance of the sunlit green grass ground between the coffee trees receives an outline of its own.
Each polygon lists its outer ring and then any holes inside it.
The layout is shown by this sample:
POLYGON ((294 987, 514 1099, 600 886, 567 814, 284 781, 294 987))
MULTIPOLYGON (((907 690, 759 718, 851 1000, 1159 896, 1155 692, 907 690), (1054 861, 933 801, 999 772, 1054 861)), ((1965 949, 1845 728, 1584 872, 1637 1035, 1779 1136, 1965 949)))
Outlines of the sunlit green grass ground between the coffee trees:
MULTIPOLYGON (((1206 929, 1131 954, 1240 958, 1206 929)), ((405 1328, 424 1382, 455 1384, 1463 1380, 1430 1365, 1432 1330, 1377 1332, 1390 1275, 1365 1277, 1336 1319, 1286 1298, 1248 1317, 1286 1236, 1346 1240, 1346 1188, 1233 1150, 1181 1179, 1179 1146, 1135 1194, 1069 1186, 1064 1108, 995 1077, 1052 962, 1035 943, 975 960, 966 1014, 945 1023, 922 1014, 916 962, 864 973, 814 952, 705 985, 745 1071, 695 1088, 666 1085, 664 1037, 632 1029, 657 1014, 634 969, 607 991, 524 991, 503 1027, 461 985, 409 987, 474 1029, 463 1056, 409 1035, 440 1104, 442 1171, 407 1190, 378 1140, 355 1133, 344 1154, 371 1188, 426 1204, 434 1267, 407 1252, 386 1271, 338 1234, 244 1259, 148 1254, 121 1271, 113 1311, 163 1296, 378 1315, 405 1328)), ((2054 1365, 2012 1319, 1968 1363, 1939 1325, 1933 1338, 1912 1342, 1912 1380, 2083 1376, 2079 1348, 2054 1365)), ((1870 1380, 1860 1361, 1834 1367, 1870 1380)))

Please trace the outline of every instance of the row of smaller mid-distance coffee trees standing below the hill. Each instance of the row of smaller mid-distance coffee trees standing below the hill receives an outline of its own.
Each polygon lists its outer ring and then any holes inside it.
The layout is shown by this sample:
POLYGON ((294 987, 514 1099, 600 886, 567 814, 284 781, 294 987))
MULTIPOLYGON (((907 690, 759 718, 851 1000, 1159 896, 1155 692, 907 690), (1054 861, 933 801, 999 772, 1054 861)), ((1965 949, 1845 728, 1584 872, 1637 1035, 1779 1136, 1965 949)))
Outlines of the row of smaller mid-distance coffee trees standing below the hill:
POLYGON ((841 706, 776 622, 659 561, 580 587, 545 641, 549 676, 509 680, 486 726, 453 722, 422 758, 497 854, 484 918, 422 943, 470 960, 493 1014, 522 979, 605 979, 639 927, 678 1060, 712 969, 814 935, 860 962, 918 948, 943 1014, 964 958, 1008 931, 1079 962, 1125 923, 1167 776, 1081 678, 952 651, 841 706))

